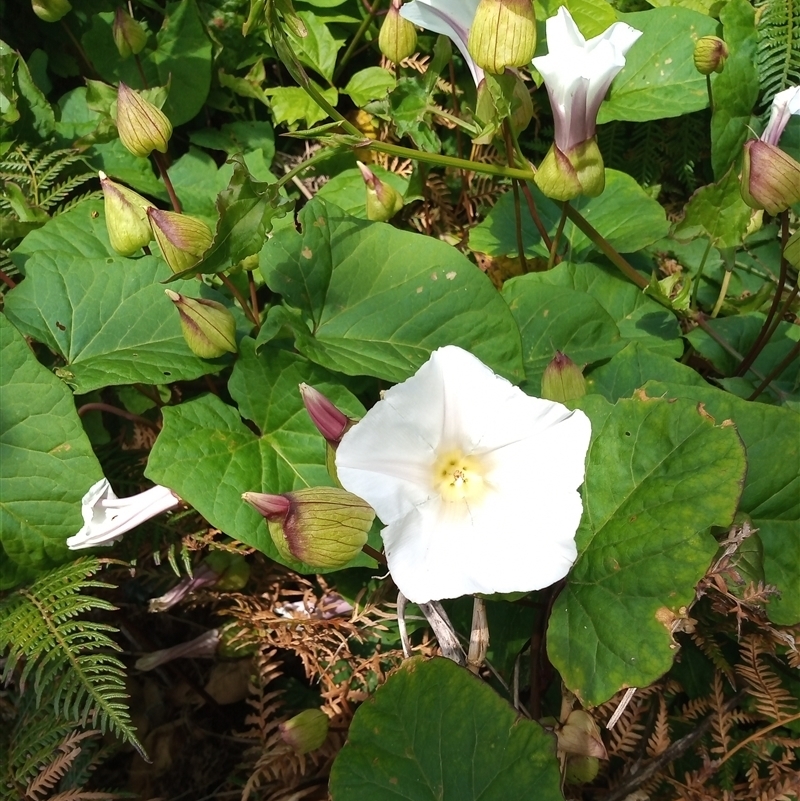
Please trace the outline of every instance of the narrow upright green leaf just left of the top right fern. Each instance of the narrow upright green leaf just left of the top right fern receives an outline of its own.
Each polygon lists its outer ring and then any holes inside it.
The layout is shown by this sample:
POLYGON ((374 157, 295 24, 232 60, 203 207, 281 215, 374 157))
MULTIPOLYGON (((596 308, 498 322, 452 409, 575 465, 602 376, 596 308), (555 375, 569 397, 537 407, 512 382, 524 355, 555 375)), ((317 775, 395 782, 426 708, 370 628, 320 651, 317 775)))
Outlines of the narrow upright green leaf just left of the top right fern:
POLYGON ((711 81, 711 164, 718 178, 736 161, 750 136, 748 124, 758 99, 755 9, 748 0, 728 0, 719 19, 730 55, 725 69, 711 81))

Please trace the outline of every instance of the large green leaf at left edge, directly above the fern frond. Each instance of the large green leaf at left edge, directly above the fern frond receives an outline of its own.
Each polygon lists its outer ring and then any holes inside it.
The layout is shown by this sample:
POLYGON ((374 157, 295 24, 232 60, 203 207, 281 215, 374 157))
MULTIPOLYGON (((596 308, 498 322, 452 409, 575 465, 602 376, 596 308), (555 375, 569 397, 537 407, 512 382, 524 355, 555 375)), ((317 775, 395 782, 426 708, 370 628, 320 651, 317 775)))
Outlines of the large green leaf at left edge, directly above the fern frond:
POLYGON ((0 315, 0 589, 64 561, 103 477, 72 393, 0 315))

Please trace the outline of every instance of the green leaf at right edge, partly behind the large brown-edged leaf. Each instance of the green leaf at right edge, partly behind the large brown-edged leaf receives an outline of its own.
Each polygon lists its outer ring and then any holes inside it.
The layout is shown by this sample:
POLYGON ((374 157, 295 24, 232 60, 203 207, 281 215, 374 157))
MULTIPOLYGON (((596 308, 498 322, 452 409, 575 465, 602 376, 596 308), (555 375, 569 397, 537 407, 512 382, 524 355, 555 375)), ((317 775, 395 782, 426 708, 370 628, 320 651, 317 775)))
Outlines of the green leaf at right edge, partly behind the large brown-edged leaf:
MULTIPOLYGON (((689 371, 692 372, 692 371, 689 371)), ((690 398, 717 420, 731 419, 747 449, 747 477, 739 509, 764 545, 764 577, 781 591, 767 607, 781 625, 800 622, 800 415, 748 403, 715 387, 651 381, 651 395, 690 398)))

